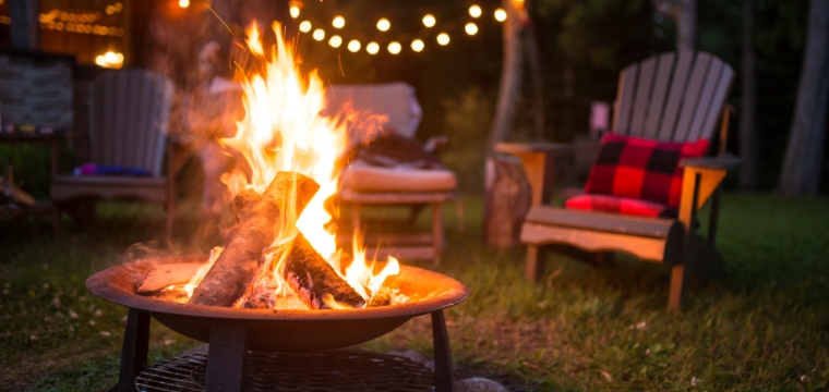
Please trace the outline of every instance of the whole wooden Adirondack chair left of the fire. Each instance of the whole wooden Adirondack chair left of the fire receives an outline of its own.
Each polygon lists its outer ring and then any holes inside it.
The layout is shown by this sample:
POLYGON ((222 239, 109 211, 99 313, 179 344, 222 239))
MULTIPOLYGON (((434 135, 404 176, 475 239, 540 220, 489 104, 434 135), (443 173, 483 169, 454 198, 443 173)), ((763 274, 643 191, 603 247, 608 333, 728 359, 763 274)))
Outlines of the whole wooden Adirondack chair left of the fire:
MULTIPOLYGON (((143 199, 167 209, 172 233, 172 175, 161 175, 172 83, 145 70, 105 73, 89 86, 89 159, 143 168, 149 176, 56 175, 51 198, 64 209, 81 199, 143 199)), ((60 213, 60 212, 59 212, 60 213)))

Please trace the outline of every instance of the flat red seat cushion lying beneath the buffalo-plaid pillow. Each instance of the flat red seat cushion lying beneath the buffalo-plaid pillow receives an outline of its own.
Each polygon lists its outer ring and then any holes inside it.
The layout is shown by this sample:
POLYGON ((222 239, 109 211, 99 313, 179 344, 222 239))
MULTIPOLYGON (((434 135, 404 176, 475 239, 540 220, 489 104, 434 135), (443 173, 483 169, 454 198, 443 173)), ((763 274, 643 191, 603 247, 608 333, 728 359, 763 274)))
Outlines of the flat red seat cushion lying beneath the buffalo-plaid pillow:
POLYGON ((666 205, 644 199, 618 197, 612 195, 580 195, 570 197, 567 199, 567 201, 564 203, 564 207, 568 209, 616 212, 640 217, 676 217, 676 209, 666 205))

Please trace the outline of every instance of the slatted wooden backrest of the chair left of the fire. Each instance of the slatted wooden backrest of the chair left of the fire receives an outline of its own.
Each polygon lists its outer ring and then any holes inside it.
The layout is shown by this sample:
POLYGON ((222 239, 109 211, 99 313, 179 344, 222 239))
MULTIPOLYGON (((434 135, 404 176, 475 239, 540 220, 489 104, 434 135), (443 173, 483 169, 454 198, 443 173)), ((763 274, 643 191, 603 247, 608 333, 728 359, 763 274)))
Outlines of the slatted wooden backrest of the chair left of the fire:
POLYGON ((172 82, 145 70, 105 73, 89 85, 89 158, 145 168, 164 163, 172 82))

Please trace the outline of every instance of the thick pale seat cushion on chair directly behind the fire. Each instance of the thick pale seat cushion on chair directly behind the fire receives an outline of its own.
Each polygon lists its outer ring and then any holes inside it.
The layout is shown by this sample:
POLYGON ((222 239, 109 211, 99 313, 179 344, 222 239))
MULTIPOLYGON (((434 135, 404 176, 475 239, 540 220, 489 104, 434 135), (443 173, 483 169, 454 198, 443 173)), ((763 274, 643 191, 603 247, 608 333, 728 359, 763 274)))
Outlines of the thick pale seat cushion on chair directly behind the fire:
POLYGON ((355 162, 340 175, 340 186, 356 192, 446 192, 457 186, 446 169, 380 168, 355 162))

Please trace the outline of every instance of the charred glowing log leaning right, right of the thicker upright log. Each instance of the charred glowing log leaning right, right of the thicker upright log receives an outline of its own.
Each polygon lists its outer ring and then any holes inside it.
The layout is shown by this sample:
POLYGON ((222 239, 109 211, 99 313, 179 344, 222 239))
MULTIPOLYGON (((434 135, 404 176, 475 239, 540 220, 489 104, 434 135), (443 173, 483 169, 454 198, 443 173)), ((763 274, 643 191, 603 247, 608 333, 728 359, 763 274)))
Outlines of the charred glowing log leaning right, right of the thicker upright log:
POLYGON ((323 296, 329 294, 338 304, 362 308, 363 298, 334 268, 314 250, 300 233, 285 260, 283 278, 312 309, 329 309, 323 296))

